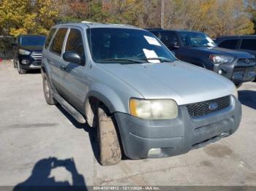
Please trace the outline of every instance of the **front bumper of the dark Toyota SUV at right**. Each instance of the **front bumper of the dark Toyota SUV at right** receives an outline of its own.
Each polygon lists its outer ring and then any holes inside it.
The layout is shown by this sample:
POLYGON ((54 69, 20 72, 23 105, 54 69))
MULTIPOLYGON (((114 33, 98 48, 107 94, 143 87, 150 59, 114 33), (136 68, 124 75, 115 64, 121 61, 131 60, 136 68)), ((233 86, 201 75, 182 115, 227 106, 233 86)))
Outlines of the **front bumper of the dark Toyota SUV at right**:
POLYGON ((214 71, 219 73, 219 70, 221 70, 221 75, 232 80, 236 85, 243 82, 251 82, 255 79, 256 76, 255 62, 244 63, 242 62, 243 60, 245 59, 235 59, 232 63, 214 65, 214 71), (236 71, 236 69, 243 70, 236 71))

